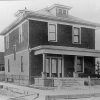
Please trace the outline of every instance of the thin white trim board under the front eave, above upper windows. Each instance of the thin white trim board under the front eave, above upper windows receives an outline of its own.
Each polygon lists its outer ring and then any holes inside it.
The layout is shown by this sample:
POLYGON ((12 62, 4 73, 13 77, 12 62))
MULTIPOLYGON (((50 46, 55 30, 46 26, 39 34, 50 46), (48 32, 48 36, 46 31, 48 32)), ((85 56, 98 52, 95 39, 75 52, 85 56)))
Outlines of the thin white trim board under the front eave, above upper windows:
POLYGON ((43 21, 43 22, 53 22, 57 24, 63 24, 63 25, 70 25, 70 26, 78 26, 78 27, 84 27, 84 28, 92 28, 96 29, 95 27, 88 26, 88 25, 81 25, 81 24, 74 24, 74 23, 67 23, 62 21, 53 21, 53 20, 47 20, 47 19, 41 19, 41 18, 28 18, 28 20, 35 20, 35 21, 43 21))

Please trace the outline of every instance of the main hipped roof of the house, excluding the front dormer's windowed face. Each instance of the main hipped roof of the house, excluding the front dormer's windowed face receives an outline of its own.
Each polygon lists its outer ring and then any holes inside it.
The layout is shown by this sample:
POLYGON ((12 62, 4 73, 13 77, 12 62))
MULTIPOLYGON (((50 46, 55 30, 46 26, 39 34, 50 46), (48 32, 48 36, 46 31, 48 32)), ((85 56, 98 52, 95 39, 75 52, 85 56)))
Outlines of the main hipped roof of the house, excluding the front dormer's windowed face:
MULTIPOLYGON (((59 5, 55 5, 55 6, 59 6, 59 5)), ((63 5, 60 5, 63 6, 63 5)), ((66 17, 57 17, 54 16, 49 9, 51 9, 54 6, 51 7, 47 7, 44 8, 42 10, 39 11, 29 11, 29 10, 20 10, 21 11, 21 16, 17 18, 17 20, 15 20, 11 25, 9 25, 4 31, 1 32, 1 35, 5 35, 7 32, 9 32, 11 29, 13 29, 15 26, 17 26, 19 23, 21 23, 22 21, 24 21, 27 18, 40 18, 40 19, 47 19, 47 20, 54 20, 54 21, 60 21, 60 22, 66 22, 66 23, 74 23, 74 24, 79 24, 79 25, 86 25, 86 26, 91 26, 91 27, 100 27, 99 23, 94 23, 94 22, 90 22, 90 21, 86 21, 83 20, 81 18, 78 17, 74 17, 72 15, 66 16, 66 17), (23 13, 22 13, 23 11, 23 13)), ((64 6, 63 6, 64 7, 64 6)), ((68 10, 71 9, 71 7, 68 7, 68 10)), ((19 11, 19 12, 20 12, 19 11)))

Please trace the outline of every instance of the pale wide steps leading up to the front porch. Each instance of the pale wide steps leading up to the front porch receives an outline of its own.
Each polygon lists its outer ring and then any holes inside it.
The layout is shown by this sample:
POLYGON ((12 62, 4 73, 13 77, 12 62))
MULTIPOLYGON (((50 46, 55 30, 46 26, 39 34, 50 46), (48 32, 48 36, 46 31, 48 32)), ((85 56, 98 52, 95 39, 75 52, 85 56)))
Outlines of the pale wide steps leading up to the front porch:
POLYGON ((71 87, 71 86, 84 86, 84 80, 81 78, 67 78, 60 79, 62 87, 71 87))

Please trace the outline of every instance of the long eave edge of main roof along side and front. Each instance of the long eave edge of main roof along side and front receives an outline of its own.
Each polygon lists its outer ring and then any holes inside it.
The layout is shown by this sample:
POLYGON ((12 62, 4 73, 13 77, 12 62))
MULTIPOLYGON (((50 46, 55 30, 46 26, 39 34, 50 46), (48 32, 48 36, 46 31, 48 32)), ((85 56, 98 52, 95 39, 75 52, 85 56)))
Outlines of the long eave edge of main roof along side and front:
POLYGON ((62 21, 62 22, 66 21, 68 23, 75 23, 75 24, 87 25, 87 26, 91 26, 91 27, 94 27, 94 28, 100 27, 100 24, 96 24, 96 23, 82 23, 82 22, 78 22, 78 21, 62 19, 62 18, 56 17, 56 16, 49 16, 49 15, 47 16, 47 15, 43 15, 43 14, 28 12, 28 13, 25 13, 20 18, 18 18, 16 21, 14 21, 11 25, 9 25, 4 31, 1 32, 0 35, 5 35, 7 32, 9 32, 12 28, 14 28, 16 25, 18 25, 24 19, 26 19, 26 18, 32 18, 32 17, 42 18, 42 19, 48 19, 48 20, 62 21))

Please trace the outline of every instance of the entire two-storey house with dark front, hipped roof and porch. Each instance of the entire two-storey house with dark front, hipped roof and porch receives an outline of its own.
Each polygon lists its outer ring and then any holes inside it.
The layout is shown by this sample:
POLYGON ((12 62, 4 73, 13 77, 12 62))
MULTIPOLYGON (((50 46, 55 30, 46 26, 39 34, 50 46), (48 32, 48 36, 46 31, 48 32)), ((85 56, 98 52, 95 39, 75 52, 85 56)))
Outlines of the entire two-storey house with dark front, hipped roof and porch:
POLYGON ((95 29, 100 25, 69 15, 70 9, 55 4, 37 12, 16 13, 18 19, 1 33, 7 81, 20 78, 22 84, 37 84, 38 78, 48 86, 50 79, 95 74, 95 58, 100 57, 95 29))

